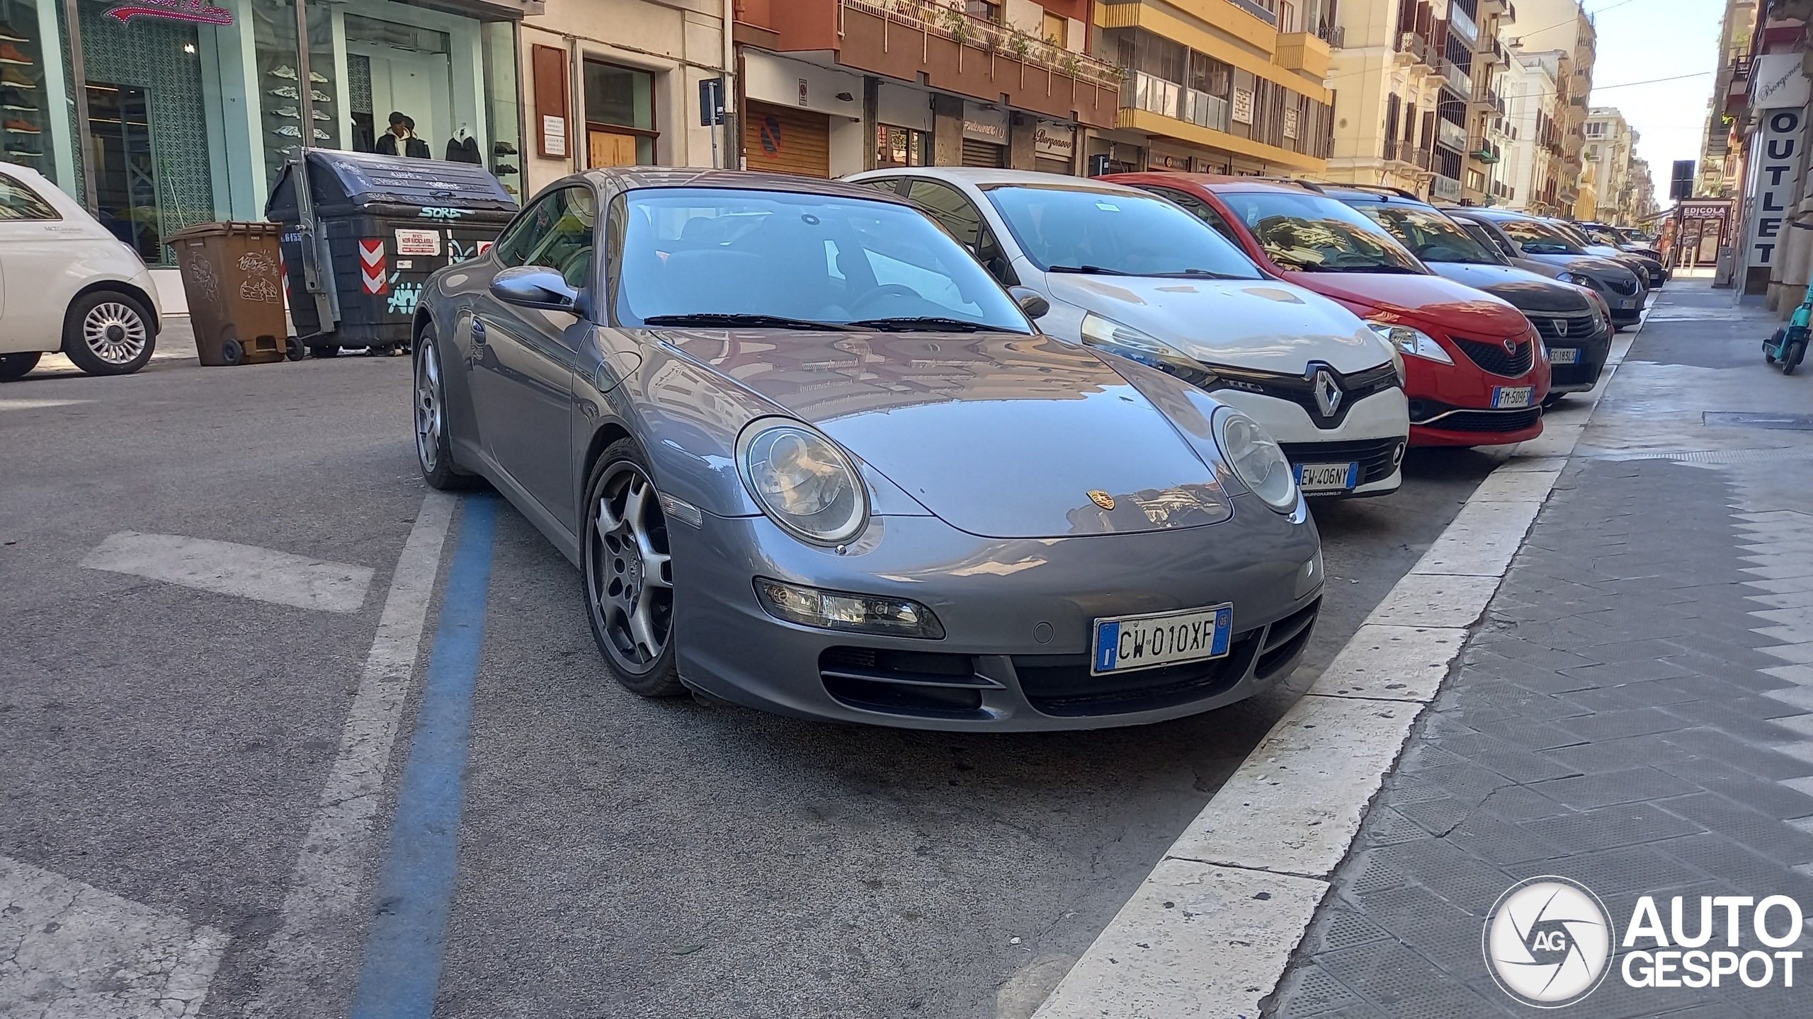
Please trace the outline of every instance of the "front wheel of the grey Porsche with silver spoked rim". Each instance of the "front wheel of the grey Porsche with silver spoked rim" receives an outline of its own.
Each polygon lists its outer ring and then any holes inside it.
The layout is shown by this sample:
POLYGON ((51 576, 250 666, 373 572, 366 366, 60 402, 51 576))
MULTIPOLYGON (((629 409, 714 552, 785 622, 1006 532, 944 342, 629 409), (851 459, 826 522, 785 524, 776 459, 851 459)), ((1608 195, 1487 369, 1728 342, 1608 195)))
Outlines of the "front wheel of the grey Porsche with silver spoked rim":
POLYGON ((633 439, 611 442, 591 468, 580 519, 580 593, 606 671, 640 696, 687 693, 674 653, 667 519, 649 462, 633 439), (640 633, 633 616, 644 620, 640 633), (647 644, 651 636, 660 647, 647 644))

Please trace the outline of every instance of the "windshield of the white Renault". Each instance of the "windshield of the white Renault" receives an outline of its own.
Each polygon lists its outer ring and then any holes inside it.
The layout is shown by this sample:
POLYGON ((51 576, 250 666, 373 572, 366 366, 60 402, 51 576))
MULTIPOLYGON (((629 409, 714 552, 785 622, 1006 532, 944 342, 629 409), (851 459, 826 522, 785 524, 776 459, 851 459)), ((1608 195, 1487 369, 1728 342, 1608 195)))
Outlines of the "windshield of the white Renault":
POLYGON ((1046 272, 1260 279, 1253 259, 1189 212, 1090 187, 988 189, 1028 259, 1046 272))

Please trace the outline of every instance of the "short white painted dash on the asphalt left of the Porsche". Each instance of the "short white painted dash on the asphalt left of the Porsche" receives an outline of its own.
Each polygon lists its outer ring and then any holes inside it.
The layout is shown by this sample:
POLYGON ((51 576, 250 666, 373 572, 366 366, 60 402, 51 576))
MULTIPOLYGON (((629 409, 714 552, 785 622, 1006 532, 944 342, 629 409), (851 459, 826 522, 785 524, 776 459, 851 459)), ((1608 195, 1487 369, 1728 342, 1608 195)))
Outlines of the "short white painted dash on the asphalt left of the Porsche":
POLYGON ((355 613, 372 569, 257 546, 120 531, 82 560, 89 569, 147 577, 198 591, 297 609, 355 613))

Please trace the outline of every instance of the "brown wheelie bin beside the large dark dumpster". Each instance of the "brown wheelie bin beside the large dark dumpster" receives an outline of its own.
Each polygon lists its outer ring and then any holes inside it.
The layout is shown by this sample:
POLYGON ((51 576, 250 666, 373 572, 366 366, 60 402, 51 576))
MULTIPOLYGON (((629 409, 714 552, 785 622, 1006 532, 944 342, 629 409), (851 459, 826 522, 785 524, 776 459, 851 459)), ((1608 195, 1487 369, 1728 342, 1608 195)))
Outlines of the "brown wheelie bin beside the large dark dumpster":
POLYGON ((170 234, 203 364, 263 364, 288 354, 276 223, 196 223, 170 234))

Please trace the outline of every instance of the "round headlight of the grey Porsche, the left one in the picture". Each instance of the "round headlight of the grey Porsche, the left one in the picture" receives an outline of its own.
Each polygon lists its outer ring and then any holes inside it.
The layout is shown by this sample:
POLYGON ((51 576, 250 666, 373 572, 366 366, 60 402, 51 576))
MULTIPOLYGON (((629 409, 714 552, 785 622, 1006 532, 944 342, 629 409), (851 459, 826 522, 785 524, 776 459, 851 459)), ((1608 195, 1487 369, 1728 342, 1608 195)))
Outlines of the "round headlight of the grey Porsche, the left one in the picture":
POLYGON ((756 504, 796 539, 838 544, 868 524, 868 491, 856 466, 836 442, 798 421, 752 422, 736 459, 756 504))

